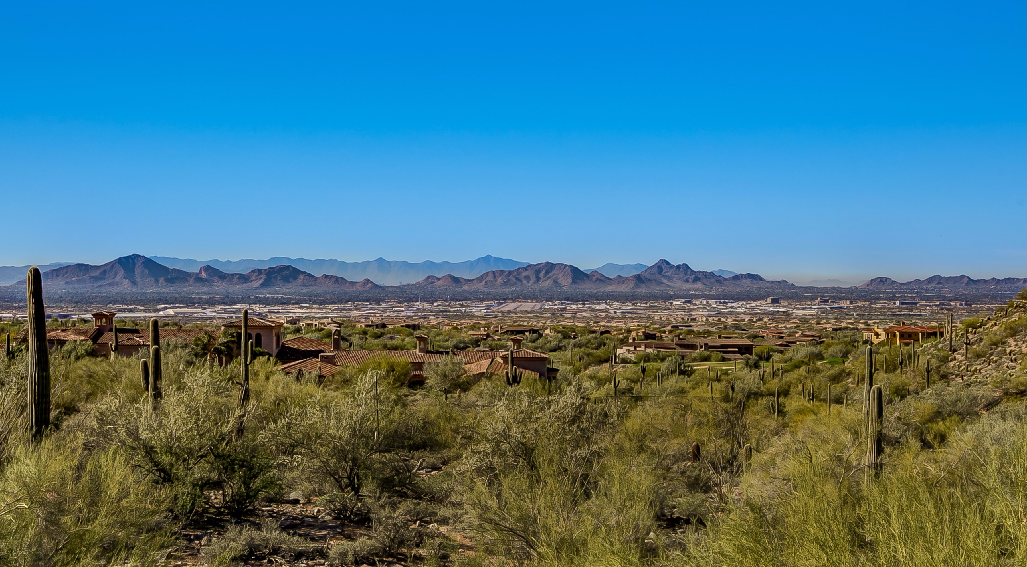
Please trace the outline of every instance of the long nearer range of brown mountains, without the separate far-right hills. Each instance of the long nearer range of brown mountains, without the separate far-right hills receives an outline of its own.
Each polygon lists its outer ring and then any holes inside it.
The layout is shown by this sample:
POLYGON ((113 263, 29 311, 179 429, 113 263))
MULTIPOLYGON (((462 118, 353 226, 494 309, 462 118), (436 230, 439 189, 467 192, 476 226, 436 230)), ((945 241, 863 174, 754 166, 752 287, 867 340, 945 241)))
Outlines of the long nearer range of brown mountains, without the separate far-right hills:
MULTIPOLYGON (((211 265, 196 271, 168 267, 151 258, 134 254, 100 266, 69 264, 43 272, 43 281, 50 289, 108 293, 117 290, 217 292, 217 291, 283 291, 332 293, 344 291, 384 291, 369 278, 353 281, 339 275, 313 275, 296 266, 278 265, 254 268, 245 273, 229 273, 211 265)), ((23 280, 24 282, 24 280, 23 280)), ((23 284, 18 282, 18 284, 23 284)), ((662 292, 703 289, 779 289, 792 288, 788 281, 768 281, 754 273, 730 277, 713 272, 693 270, 688 264, 674 265, 660 260, 632 275, 609 277, 598 270, 588 273, 570 264, 542 262, 514 269, 489 270, 477 277, 461 277, 448 273, 429 275, 414 284, 389 286, 397 291, 453 290, 560 290, 603 292, 662 292)))

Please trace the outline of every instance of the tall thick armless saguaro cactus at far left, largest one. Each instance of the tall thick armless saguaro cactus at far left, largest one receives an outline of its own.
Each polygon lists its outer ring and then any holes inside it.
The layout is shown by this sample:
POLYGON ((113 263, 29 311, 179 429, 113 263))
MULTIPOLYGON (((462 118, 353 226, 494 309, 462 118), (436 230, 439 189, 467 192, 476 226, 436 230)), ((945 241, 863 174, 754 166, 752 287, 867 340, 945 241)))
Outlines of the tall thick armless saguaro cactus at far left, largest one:
POLYGON ((29 311, 29 424, 39 439, 50 424, 50 353, 46 348, 43 276, 32 266, 26 275, 29 311))

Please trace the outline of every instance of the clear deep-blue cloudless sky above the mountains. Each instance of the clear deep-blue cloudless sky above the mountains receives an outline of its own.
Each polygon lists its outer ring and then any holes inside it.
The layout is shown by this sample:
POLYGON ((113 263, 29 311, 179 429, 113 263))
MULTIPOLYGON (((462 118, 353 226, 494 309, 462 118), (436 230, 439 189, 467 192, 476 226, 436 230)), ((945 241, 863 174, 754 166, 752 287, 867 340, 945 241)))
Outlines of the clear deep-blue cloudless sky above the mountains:
POLYGON ((1027 276, 1023 2, 6 2, 0 264, 1027 276))

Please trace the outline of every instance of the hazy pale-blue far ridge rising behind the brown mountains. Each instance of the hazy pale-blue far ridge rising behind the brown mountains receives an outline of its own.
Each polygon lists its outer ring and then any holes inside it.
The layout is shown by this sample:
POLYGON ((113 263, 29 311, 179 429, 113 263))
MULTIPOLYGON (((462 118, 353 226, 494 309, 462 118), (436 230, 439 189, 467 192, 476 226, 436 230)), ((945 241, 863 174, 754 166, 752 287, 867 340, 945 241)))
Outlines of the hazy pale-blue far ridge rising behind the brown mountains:
MULTIPOLYGON (((483 256, 465 262, 407 262, 404 260, 366 260, 364 262, 343 262, 335 259, 307 260, 306 258, 274 257, 267 260, 192 260, 189 258, 168 258, 153 256, 155 260, 169 268, 198 271, 202 266, 211 266, 229 273, 246 273, 250 270, 275 266, 294 266, 308 273, 338 275, 353 281, 370 279, 380 286, 400 286, 424 279, 429 275, 451 273, 459 277, 478 277, 491 270, 511 270, 527 266, 508 258, 483 256)), ((40 268, 41 269, 41 268, 40 268)), ((645 269, 645 266, 642 266, 645 269)), ((641 271, 641 270, 638 270, 641 271)), ((25 274, 22 274, 25 277, 25 274)))

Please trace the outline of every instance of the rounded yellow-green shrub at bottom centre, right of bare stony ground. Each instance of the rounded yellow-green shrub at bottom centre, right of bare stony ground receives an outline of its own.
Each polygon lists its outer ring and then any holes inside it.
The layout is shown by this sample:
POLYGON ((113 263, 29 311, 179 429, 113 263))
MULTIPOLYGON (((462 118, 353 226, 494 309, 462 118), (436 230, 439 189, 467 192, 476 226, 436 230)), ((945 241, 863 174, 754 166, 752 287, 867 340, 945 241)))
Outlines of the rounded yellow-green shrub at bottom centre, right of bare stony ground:
POLYGON ((650 486, 627 478, 630 466, 603 460, 610 410, 617 408, 591 404, 572 383, 548 404, 511 392, 474 424, 456 478, 468 529, 487 549, 559 561, 597 531, 622 532, 622 519, 603 514, 636 509, 624 500, 650 486), (616 471, 609 484, 600 481, 601 462, 616 471))

